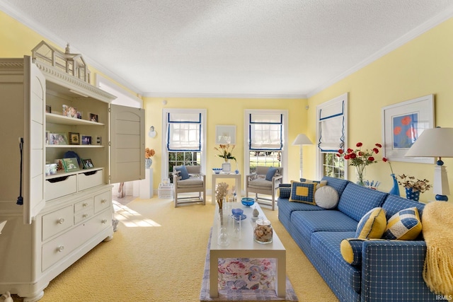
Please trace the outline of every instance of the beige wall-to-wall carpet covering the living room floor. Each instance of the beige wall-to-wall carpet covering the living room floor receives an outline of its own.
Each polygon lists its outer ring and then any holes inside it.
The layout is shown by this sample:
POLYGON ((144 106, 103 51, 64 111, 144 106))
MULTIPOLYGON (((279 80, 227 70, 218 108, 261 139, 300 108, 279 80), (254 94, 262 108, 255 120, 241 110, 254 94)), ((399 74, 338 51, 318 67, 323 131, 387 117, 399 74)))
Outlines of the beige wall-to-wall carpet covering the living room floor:
MULTIPOLYGON (((262 207, 287 250, 287 276, 303 301, 338 301, 278 221, 262 207)), ((175 208, 172 199, 115 204, 113 240, 101 243, 50 282, 40 302, 197 302, 215 207, 175 208)), ((22 301, 15 297, 14 301, 22 301)))

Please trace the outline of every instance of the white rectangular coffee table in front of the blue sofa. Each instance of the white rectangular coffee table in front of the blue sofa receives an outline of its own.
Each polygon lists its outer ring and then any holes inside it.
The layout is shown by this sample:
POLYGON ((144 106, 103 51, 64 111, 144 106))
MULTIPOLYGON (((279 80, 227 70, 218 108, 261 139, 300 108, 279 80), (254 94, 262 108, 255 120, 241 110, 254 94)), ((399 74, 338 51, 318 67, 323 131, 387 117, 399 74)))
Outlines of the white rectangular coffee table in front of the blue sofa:
MULTIPOLYGON (((241 225, 241 240, 233 240, 230 236, 228 246, 217 244, 219 226, 219 205, 217 204, 214 213, 214 224, 212 226, 212 238, 210 245, 210 296, 219 296, 219 258, 275 258, 277 266, 277 279, 275 280, 275 292, 277 296, 286 296, 286 250, 275 231, 273 232, 273 242, 260 244, 253 240, 253 225, 251 220, 253 207, 260 212, 260 218, 265 219, 265 214, 258 203, 252 207, 245 207, 241 202, 234 202, 233 209, 243 209, 243 214, 247 216, 241 225)), ((231 212, 231 209, 230 209, 231 212)))

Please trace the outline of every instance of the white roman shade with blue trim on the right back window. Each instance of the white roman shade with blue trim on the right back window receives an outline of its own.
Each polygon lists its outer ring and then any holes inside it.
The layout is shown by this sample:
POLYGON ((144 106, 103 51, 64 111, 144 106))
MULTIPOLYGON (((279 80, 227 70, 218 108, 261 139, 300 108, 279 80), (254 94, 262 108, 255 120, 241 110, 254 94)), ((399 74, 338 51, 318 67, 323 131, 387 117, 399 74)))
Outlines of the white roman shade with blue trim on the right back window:
POLYGON ((282 127, 281 114, 252 113, 249 122, 249 149, 282 150, 282 127))

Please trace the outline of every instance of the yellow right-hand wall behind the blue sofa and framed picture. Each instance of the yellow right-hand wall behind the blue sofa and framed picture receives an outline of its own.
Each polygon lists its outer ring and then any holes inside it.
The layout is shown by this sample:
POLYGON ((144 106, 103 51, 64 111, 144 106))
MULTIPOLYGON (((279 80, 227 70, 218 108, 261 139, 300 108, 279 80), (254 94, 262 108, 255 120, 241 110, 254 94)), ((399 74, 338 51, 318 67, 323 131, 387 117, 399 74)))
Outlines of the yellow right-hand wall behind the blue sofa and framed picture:
MULTIPOLYGON (((382 142, 382 108, 428 94, 435 95, 435 126, 453 127, 452 37, 453 18, 450 18, 309 98, 309 134, 316 134, 316 105, 346 92, 350 93, 350 146, 347 147, 353 148, 357 141, 362 141, 368 148, 382 142)), ((314 149, 309 153, 309 158, 314 161, 314 149)), ((381 158, 378 157, 379 160, 381 158)), ((453 190, 453 160, 445 158, 445 165, 453 190)), ((352 168, 349 168, 349 175, 351 180, 355 180, 352 168)), ((432 184, 434 165, 395 161, 392 162, 392 168, 396 175, 404 173, 420 179, 427 178, 432 184)), ((305 172, 314 175, 314 170, 304 169, 305 172)), ((366 173, 366 179, 382 181, 380 189, 391 189, 388 164, 381 161, 369 165, 366 173)), ((405 196, 402 187, 400 192, 405 196)), ((432 190, 420 195, 422 201, 433 199, 432 190)))

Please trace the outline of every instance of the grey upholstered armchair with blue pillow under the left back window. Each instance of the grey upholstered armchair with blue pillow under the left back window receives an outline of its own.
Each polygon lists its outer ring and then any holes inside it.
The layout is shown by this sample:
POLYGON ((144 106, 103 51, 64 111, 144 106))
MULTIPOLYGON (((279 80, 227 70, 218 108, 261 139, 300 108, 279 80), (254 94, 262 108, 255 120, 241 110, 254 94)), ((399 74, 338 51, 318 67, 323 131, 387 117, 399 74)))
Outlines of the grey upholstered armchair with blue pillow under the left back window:
POLYGON ((180 204, 202 202, 206 204, 206 175, 200 165, 175 165, 173 167, 173 198, 175 207, 180 204), (178 197, 180 193, 197 192, 198 196, 178 197), (201 195, 203 194, 203 197, 201 195))

